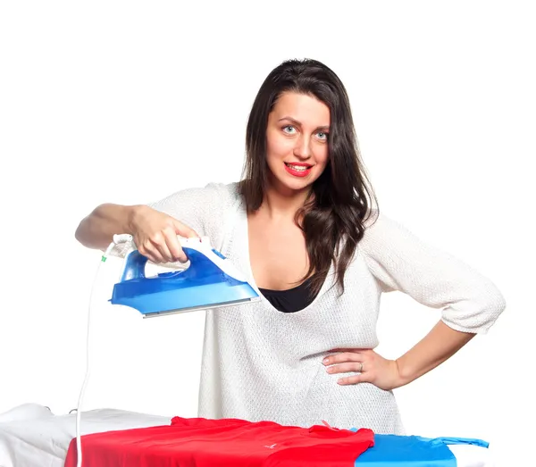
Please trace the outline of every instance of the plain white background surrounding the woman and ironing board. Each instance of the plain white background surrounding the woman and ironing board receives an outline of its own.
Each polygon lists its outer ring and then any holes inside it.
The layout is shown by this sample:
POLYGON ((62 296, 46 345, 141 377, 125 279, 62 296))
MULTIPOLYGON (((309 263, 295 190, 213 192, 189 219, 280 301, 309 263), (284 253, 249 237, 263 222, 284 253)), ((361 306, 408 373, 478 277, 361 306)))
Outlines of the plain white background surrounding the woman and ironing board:
MULTIPOLYGON (((472 264, 507 311, 396 391, 409 433, 490 441, 528 465, 534 430, 535 17, 531 2, 4 2, 0 6, 0 412, 76 407, 100 254, 97 204, 239 179, 247 114, 282 60, 330 66, 380 207, 472 264)), ((203 313, 142 320, 95 288, 84 408, 195 416, 203 313)), ((384 296, 396 358, 439 318, 384 296)), ((531 461, 532 462, 532 461, 531 461)))

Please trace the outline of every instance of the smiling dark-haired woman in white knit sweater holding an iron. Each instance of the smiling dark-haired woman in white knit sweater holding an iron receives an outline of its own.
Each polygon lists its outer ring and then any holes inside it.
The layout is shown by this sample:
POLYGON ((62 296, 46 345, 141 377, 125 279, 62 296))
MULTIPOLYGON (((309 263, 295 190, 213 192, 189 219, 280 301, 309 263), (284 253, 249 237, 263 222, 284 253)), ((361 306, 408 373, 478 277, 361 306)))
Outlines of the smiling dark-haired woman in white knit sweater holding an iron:
POLYGON ((346 90, 314 60, 281 63, 247 123, 245 177, 150 206, 103 204, 77 238, 130 233, 154 263, 186 261, 177 235, 207 236, 260 302, 207 311, 199 416, 404 433, 392 390, 487 331, 505 302, 489 279, 373 207, 346 90), (397 360, 374 352, 382 292, 441 309, 397 360))

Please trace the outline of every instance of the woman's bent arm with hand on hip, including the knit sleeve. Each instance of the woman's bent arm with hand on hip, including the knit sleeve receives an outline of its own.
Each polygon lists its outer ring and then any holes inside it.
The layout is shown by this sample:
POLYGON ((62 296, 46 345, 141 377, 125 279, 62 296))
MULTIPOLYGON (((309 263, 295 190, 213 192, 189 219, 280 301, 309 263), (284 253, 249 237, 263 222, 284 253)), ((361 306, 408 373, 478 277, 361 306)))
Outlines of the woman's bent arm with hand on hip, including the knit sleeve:
POLYGON ((398 290, 420 304, 440 309, 436 326, 406 354, 387 360, 372 349, 339 349, 325 364, 330 372, 357 371, 340 384, 371 382, 386 390, 404 386, 486 333, 506 307, 498 288, 454 256, 430 246, 380 215, 358 246, 382 292, 398 290))

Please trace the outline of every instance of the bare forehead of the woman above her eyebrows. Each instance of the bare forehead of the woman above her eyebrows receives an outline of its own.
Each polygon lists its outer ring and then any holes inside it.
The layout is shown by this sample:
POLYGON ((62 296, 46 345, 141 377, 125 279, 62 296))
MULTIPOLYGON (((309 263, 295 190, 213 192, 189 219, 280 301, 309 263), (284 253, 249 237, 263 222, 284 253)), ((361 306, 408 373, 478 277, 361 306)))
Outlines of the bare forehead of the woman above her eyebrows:
POLYGON ((330 108, 314 96, 285 92, 273 106, 271 117, 289 117, 304 125, 329 126, 330 108))

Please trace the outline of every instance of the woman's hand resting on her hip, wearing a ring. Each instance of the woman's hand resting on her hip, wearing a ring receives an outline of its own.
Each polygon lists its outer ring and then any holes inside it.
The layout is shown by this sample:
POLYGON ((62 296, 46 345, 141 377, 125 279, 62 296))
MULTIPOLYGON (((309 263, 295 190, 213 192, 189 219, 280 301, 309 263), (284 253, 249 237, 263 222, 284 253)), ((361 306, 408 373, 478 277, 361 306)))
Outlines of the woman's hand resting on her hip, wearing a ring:
POLYGON ((355 375, 338 379, 341 386, 366 382, 389 391, 403 385, 397 361, 383 358, 373 349, 334 349, 332 352, 336 354, 322 361, 328 373, 356 372, 355 375))

